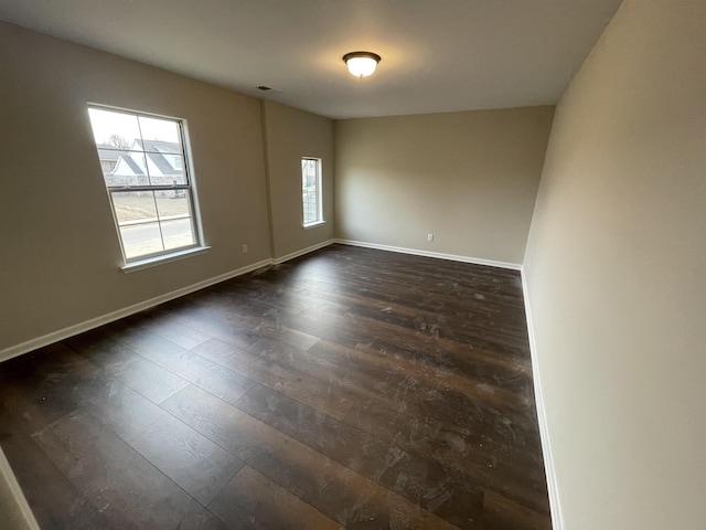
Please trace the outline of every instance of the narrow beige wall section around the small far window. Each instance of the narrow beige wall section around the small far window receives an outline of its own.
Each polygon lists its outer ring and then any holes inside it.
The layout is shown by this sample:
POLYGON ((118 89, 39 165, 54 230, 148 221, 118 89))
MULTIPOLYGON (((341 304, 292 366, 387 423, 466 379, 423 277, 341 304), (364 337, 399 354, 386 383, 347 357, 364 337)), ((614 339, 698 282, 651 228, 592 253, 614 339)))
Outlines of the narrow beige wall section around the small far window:
POLYGON ((281 258, 333 239, 333 120, 263 102, 272 256, 281 258), (301 158, 320 158, 324 224, 302 226, 301 158))

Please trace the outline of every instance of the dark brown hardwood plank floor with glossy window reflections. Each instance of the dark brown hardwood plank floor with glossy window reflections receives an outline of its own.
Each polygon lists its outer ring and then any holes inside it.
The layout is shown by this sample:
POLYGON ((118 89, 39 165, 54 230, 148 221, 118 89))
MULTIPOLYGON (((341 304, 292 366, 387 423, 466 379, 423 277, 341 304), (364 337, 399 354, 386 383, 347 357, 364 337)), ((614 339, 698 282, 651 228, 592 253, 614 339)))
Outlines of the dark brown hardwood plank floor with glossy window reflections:
POLYGON ((513 271, 332 245, 7 361, 0 404, 43 529, 550 528, 513 271))

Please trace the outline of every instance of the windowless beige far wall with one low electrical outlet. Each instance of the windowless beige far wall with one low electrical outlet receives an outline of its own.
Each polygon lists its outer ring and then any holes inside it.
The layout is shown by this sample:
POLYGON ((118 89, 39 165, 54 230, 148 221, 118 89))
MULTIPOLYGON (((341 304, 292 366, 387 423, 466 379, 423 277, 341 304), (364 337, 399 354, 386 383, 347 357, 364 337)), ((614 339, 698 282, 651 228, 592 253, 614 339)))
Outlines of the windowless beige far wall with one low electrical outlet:
POLYGON ((553 112, 338 121, 336 236, 522 264, 553 112))

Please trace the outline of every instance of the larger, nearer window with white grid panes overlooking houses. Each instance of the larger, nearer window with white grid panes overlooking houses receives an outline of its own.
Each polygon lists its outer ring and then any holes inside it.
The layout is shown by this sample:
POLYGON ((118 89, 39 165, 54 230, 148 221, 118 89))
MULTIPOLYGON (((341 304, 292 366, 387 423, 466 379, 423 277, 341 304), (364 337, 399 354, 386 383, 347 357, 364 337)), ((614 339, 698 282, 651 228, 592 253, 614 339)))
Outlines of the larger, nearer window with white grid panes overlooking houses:
POLYGON ((179 119, 88 107, 126 264, 200 245, 179 119))

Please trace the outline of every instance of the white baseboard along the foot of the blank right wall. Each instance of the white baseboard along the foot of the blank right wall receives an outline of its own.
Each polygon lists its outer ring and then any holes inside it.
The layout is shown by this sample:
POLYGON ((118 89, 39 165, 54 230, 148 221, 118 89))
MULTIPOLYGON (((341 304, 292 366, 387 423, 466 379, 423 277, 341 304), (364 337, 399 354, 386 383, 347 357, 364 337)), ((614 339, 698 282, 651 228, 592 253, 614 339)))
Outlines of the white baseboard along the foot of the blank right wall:
POLYGON ((532 324, 532 308, 530 306, 530 295, 525 273, 522 271, 522 295, 525 303, 525 318, 527 320, 527 336, 530 339, 530 354, 532 357, 532 379, 534 381, 534 401, 537 409, 537 422, 539 424, 539 438, 542 441, 542 453, 544 454, 544 470, 547 477, 547 490, 549 492, 549 509, 552 510, 552 528, 564 530, 564 515, 561 513, 561 502, 559 499, 559 486, 556 478, 556 468, 552 453, 549 439, 549 427, 544 407, 544 393, 542 391, 542 378, 539 375, 539 361, 537 359, 537 343, 532 324))

